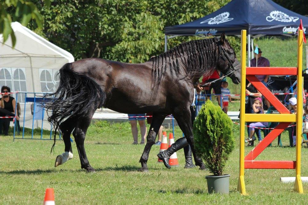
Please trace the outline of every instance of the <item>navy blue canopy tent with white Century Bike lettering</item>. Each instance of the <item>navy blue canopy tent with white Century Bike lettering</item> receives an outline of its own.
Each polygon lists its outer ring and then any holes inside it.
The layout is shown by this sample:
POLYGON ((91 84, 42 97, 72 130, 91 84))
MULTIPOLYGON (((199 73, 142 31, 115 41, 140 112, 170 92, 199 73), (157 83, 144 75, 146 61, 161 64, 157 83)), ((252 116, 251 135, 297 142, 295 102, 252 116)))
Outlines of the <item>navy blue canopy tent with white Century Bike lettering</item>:
MULTIPOLYGON (((227 35, 240 36, 242 29, 247 30, 248 48, 250 48, 254 37, 297 35, 300 19, 306 34, 308 17, 287 10, 271 0, 233 0, 212 14, 193 22, 165 27, 165 51, 167 51, 168 38, 215 36, 223 32, 227 35)), ((250 52, 248 52, 248 58, 250 59, 250 52)), ((250 64, 250 61, 248 63, 250 64)))

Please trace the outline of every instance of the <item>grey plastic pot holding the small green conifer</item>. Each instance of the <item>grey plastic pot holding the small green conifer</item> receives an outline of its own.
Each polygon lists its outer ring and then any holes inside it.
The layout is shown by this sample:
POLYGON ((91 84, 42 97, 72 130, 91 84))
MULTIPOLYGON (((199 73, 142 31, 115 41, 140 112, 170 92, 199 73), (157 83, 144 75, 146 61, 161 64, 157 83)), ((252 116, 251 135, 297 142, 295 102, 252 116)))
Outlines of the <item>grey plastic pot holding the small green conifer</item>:
POLYGON ((221 193, 229 194, 229 174, 222 176, 206 176, 206 182, 208 184, 208 192, 212 193, 221 193))

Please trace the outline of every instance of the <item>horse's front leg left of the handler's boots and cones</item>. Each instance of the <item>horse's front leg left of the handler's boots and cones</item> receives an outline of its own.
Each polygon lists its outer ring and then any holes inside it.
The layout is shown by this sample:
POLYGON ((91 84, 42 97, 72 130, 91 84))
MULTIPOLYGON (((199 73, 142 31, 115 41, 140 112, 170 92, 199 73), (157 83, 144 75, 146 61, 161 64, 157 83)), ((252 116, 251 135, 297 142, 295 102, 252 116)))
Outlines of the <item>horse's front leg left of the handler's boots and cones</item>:
POLYGON ((144 147, 144 151, 139 161, 141 163, 141 168, 139 169, 139 171, 144 171, 144 172, 149 171, 148 165, 147 165, 149 153, 152 148, 152 145, 155 143, 158 130, 166 116, 167 115, 165 114, 153 113, 152 123, 151 123, 148 136, 147 136, 147 144, 144 147))

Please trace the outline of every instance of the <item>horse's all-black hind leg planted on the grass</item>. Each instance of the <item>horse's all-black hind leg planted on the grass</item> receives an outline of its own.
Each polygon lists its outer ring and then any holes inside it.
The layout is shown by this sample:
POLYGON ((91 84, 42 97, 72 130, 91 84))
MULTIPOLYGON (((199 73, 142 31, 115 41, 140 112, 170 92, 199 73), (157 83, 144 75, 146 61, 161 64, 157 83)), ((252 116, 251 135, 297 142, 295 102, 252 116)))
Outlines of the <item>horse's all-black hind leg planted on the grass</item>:
POLYGON ((87 129, 90 125, 92 116, 95 112, 95 109, 89 110, 89 115, 86 117, 80 118, 78 120, 75 130, 73 131, 73 136, 75 137, 75 142, 79 154, 81 168, 90 171, 95 171, 87 159, 86 150, 84 149, 84 139, 86 137, 87 129))

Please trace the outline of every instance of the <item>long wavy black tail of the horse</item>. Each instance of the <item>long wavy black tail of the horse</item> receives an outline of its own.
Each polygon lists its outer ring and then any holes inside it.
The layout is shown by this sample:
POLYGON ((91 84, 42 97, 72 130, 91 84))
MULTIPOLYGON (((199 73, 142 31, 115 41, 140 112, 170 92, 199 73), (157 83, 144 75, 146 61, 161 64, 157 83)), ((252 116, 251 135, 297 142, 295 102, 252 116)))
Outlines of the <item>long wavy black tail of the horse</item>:
POLYGON ((91 77, 77 73, 71 68, 72 63, 66 63, 59 70, 59 87, 55 93, 47 94, 47 97, 54 99, 44 105, 47 110, 52 112, 51 116, 48 116, 48 121, 54 128, 54 144, 51 151, 55 147, 60 123, 65 118, 78 120, 85 117, 88 115, 89 109, 102 107, 106 99, 103 90, 91 77))

